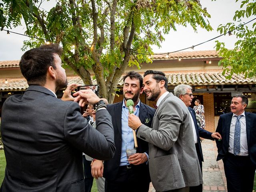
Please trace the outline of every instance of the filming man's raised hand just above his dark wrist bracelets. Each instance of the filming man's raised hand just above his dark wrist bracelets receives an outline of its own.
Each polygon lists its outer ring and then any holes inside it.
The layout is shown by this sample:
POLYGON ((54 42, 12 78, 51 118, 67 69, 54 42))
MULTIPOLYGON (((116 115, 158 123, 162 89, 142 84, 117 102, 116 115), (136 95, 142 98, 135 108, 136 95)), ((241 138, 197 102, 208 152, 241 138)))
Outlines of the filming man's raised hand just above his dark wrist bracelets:
POLYGON ((81 107, 88 103, 94 105, 100 101, 100 98, 91 89, 83 89, 73 95, 76 97, 74 102, 78 102, 81 107))

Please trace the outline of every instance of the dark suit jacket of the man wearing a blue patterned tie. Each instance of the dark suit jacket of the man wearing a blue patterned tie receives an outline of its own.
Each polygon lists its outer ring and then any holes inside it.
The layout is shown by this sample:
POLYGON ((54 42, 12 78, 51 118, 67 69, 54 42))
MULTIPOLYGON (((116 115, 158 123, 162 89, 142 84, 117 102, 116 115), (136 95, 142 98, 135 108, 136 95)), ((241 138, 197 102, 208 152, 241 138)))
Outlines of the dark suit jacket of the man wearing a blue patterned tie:
MULTIPOLYGON (((216 145, 218 148, 217 161, 223 159, 228 153, 232 116, 232 112, 220 115, 216 132, 219 132, 222 135, 222 140, 216 140, 216 145)), ((256 114, 245 112, 245 119, 248 153, 250 160, 254 165, 256 165, 256 114)))

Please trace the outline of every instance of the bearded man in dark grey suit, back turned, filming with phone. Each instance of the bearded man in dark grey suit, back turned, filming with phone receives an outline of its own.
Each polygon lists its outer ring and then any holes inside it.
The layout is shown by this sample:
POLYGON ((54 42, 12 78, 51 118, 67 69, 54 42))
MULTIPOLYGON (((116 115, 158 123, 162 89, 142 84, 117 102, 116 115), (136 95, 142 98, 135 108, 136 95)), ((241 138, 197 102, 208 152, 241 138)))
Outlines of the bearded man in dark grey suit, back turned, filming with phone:
POLYGON ((20 60, 29 87, 23 95, 10 96, 2 108, 2 192, 83 192, 82 152, 101 160, 114 155, 111 116, 100 98, 92 90, 76 92, 74 102, 56 97, 56 90, 68 83, 61 53, 58 44, 44 45, 20 60), (94 104, 97 130, 82 117, 78 100, 94 104))

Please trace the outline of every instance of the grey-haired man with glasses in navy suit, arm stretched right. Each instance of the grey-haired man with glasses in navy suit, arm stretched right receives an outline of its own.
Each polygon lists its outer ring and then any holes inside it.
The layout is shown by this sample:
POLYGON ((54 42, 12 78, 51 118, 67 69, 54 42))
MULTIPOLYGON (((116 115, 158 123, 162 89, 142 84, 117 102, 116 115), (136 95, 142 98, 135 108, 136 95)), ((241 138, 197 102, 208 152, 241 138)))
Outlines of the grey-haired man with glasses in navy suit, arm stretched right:
MULTIPOLYGON (((197 124, 196 121, 196 113, 194 109, 190 108, 189 106, 191 105, 193 94, 192 94, 192 87, 189 85, 184 85, 180 84, 174 88, 174 95, 180 98, 184 104, 188 107, 188 110, 191 114, 191 120, 192 120, 192 126, 193 126, 193 133, 194 133, 194 142, 196 145, 196 153, 198 156, 201 172, 202 172, 202 162, 204 161, 203 157, 203 152, 202 152, 202 146, 200 142, 200 137, 205 138, 205 139, 210 139, 214 140, 216 139, 221 139, 221 135, 218 132, 212 133, 207 130, 204 130, 200 128, 197 124)), ((190 187, 189 191, 190 192, 202 192, 203 186, 202 184, 198 186, 193 186, 190 187)))

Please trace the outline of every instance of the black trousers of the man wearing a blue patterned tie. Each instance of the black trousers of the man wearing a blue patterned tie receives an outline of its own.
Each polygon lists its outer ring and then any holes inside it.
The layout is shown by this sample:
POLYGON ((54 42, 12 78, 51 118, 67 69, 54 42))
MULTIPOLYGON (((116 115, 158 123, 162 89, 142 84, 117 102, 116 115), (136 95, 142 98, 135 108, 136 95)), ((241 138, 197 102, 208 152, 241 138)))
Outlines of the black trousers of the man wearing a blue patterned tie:
POLYGON ((223 164, 228 192, 252 192, 256 166, 249 156, 228 153, 223 164))

